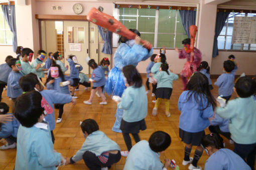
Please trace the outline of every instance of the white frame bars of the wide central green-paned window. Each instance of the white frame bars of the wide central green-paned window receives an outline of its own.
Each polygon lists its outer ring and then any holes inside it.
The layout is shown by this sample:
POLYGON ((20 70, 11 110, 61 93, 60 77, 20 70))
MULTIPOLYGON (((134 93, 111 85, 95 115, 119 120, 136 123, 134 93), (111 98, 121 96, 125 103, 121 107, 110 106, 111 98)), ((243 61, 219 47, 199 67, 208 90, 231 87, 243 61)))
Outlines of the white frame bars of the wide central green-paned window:
MULTIPOLYGON (((123 8, 126 8, 126 7, 123 7, 123 8)), ((154 45, 153 47, 155 49, 158 49, 158 48, 161 48, 161 47, 158 47, 158 34, 168 34, 168 35, 174 35, 174 43, 173 43, 173 47, 166 47, 166 49, 175 49, 175 47, 177 46, 176 45, 176 37, 177 35, 187 35, 186 33, 177 33, 177 22, 178 22, 178 14, 179 14, 179 10, 178 9, 171 9, 171 10, 176 10, 175 13, 176 13, 176 16, 175 16, 175 30, 174 30, 174 33, 169 33, 169 32, 159 32, 158 31, 158 23, 159 23, 159 10, 162 10, 162 9, 157 9, 156 10, 156 13, 155 13, 155 32, 143 32, 143 31, 140 31, 140 33, 147 33, 147 34, 154 34, 154 45)), ((169 9, 170 10, 170 9, 169 9)), ((120 19, 122 15, 120 14, 120 8, 117 8, 117 17, 118 17, 118 20, 120 22, 123 23, 123 19, 120 19)), ((137 8, 137 17, 136 17, 136 29, 138 29, 138 22, 139 22, 139 8, 137 8)), ((184 28, 185 30, 185 28, 184 28)), ((118 43, 117 43, 118 44, 118 43)), ((117 45, 118 46, 118 45, 117 45)))

